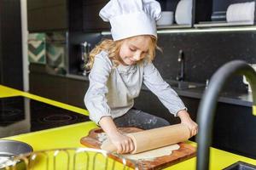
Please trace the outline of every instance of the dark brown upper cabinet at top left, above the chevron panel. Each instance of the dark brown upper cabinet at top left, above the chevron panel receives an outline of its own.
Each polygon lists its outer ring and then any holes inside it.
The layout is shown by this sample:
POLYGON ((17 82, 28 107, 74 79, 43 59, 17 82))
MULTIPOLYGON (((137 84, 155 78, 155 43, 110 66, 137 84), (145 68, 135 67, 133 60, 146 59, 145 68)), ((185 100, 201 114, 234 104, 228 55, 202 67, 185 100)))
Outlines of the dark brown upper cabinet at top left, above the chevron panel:
POLYGON ((82 31, 83 20, 83 0, 27 1, 30 32, 82 31))

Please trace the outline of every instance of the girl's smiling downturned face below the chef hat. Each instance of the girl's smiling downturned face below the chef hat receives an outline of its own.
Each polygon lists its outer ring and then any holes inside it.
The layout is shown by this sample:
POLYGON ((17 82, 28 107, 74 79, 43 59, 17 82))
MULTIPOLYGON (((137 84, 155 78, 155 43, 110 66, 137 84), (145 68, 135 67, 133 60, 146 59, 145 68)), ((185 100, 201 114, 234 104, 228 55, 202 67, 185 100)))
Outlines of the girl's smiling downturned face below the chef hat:
POLYGON ((149 36, 137 36, 125 39, 120 46, 119 56, 123 65, 134 65, 148 54, 151 42, 149 36))

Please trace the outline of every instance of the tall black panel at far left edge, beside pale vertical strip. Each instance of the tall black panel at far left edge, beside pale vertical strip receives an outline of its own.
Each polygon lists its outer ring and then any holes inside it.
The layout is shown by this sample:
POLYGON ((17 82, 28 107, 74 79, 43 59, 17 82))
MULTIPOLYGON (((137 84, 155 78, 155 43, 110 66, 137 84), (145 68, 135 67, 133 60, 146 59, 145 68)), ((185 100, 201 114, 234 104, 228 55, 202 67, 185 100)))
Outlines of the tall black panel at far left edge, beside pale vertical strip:
POLYGON ((20 0, 0 1, 0 84, 23 89, 20 0), (15 12, 14 12, 15 11, 15 12))

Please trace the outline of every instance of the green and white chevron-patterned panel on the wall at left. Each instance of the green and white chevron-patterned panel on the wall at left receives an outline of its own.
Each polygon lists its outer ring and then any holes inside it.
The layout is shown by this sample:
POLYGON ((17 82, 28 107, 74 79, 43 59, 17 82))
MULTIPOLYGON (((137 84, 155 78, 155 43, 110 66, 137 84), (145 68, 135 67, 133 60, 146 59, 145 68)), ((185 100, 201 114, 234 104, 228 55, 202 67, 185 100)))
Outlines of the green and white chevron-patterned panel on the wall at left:
POLYGON ((49 72, 66 73, 66 32, 31 33, 28 36, 28 59, 47 65, 49 72))

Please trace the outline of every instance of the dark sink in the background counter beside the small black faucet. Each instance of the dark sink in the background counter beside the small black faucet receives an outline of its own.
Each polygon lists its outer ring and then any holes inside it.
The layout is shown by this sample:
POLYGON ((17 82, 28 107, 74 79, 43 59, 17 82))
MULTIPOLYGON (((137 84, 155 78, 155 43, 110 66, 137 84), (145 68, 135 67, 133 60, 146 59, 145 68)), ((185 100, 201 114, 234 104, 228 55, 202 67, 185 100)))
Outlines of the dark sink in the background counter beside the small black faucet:
POLYGON ((196 82, 183 82, 183 81, 167 81, 172 88, 188 89, 188 88, 200 88, 205 87, 204 84, 196 82))

